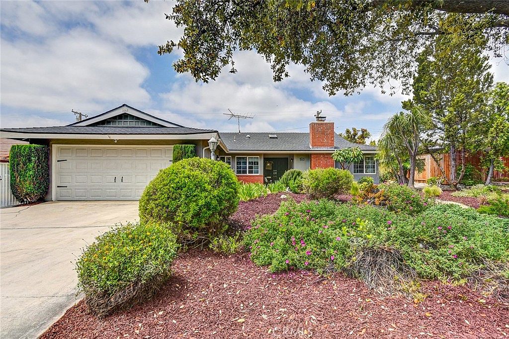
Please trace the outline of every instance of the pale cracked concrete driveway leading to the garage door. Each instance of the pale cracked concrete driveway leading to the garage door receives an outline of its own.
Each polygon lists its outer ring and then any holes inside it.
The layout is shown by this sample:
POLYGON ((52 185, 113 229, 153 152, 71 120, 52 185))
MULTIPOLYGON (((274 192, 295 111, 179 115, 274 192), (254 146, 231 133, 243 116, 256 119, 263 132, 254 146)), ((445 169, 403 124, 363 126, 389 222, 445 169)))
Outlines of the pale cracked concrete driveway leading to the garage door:
POLYGON ((116 223, 135 221, 138 202, 48 202, 0 210, 0 337, 34 338, 78 299, 81 248, 116 223))

